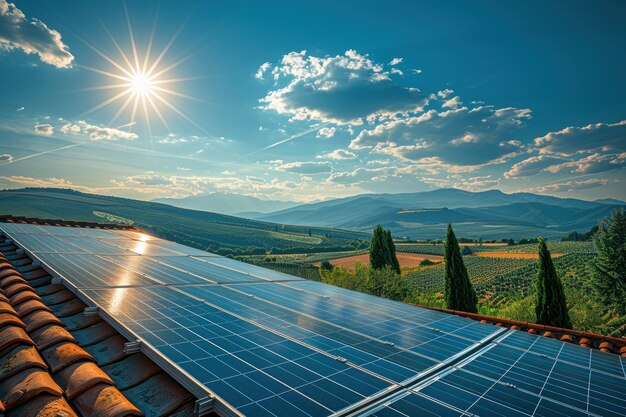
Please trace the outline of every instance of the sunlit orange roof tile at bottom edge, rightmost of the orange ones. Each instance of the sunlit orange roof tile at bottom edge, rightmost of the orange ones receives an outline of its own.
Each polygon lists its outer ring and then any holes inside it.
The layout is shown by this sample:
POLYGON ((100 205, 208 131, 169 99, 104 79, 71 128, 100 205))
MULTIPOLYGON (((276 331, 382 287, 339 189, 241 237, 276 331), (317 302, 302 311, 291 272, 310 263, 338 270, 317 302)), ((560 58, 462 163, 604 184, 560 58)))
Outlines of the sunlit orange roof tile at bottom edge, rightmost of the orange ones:
POLYGON ((142 413, 117 388, 98 384, 79 395, 74 405, 84 416, 126 417, 141 416, 142 413))

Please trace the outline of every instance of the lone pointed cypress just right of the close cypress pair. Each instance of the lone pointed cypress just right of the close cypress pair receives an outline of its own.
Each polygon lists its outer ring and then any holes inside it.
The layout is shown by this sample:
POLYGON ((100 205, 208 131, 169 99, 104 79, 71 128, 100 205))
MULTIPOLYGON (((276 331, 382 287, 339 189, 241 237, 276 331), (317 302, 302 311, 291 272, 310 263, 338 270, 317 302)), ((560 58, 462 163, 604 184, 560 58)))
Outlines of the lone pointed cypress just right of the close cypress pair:
POLYGON ((443 243, 443 256, 445 261, 443 282, 447 308, 477 313, 476 291, 469 280, 459 242, 450 224, 443 243))

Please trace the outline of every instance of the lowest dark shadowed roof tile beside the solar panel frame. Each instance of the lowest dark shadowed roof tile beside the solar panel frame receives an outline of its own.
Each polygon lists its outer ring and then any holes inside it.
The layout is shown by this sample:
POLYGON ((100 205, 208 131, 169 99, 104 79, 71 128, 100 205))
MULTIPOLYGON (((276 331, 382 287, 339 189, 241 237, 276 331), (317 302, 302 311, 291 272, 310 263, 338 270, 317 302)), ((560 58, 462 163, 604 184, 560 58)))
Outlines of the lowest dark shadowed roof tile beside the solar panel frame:
POLYGON ((165 373, 125 390, 124 394, 138 407, 154 410, 155 416, 166 416, 193 399, 187 390, 165 373))

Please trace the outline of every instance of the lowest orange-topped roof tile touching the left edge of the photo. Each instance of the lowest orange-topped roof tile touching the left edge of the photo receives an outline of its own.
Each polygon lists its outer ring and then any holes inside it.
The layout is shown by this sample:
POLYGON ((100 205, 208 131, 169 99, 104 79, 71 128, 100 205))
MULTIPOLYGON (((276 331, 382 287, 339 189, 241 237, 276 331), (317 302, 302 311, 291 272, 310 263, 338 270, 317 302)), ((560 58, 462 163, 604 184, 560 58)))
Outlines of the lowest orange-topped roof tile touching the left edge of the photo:
POLYGON ((4 398, 7 409, 23 404, 44 392, 57 397, 63 395, 63 390, 54 382, 52 376, 39 368, 28 368, 0 382, 0 397, 4 398))

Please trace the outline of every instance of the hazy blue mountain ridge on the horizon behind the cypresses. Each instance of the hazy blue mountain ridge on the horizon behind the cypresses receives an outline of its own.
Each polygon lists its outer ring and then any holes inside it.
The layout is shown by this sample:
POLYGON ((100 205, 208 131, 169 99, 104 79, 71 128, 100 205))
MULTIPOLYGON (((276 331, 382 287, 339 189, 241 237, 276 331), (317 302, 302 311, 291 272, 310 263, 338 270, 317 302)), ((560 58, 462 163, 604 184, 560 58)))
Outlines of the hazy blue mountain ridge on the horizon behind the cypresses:
POLYGON ((498 190, 470 192, 457 189, 403 194, 361 194, 299 205, 257 220, 310 224, 351 230, 371 230, 376 224, 396 236, 441 237, 447 223, 464 236, 520 238, 543 235, 557 238, 586 231, 618 207, 611 202, 558 198, 532 193, 506 194, 498 190))

